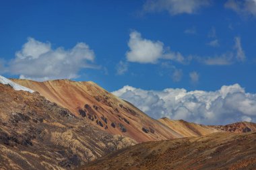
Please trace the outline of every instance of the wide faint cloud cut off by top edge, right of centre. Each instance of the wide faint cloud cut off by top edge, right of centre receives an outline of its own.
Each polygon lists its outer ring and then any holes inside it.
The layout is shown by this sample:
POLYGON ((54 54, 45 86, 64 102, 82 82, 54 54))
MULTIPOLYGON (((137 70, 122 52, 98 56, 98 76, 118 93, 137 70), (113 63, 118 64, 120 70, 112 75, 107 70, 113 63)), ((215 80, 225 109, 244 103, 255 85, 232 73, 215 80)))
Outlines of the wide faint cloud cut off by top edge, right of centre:
POLYGON ((208 5, 210 5, 209 0, 147 0, 143 5, 143 11, 168 11, 170 15, 191 14, 208 5))

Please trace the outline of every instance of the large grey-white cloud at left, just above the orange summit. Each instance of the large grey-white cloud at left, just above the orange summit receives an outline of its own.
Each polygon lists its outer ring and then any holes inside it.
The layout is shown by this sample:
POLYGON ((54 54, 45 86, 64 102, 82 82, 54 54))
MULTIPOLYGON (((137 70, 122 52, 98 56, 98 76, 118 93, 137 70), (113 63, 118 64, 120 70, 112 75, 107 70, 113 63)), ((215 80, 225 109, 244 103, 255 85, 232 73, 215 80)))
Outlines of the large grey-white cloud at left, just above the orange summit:
POLYGON ((83 43, 77 43, 70 50, 51 48, 50 42, 39 42, 28 38, 22 50, 15 53, 8 72, 20 75, 21 79, 44 81, 49 79, 73 79, 81 69, 92 68, 94 51, 83 43))

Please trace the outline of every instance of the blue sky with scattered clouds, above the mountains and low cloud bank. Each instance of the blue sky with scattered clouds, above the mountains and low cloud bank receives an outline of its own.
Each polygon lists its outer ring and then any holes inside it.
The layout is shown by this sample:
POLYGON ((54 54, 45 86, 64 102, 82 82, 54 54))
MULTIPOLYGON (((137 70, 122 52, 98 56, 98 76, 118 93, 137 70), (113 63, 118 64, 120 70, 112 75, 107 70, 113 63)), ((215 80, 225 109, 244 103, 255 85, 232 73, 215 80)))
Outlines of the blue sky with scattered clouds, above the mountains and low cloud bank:
POLYGON ((253 0, 1 1, 0 73, 108 91, 238 83, 256 93, 255 19, 253 0))

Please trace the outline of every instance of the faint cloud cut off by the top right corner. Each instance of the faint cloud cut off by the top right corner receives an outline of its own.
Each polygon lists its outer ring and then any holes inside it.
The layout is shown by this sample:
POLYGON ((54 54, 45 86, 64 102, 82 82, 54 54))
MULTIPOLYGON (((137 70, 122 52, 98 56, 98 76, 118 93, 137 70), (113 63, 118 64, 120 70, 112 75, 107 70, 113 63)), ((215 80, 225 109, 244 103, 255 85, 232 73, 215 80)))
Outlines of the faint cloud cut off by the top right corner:
POLYGON ((256 16, 255 0, 228 0, 224 6, 242 15, 256 16))

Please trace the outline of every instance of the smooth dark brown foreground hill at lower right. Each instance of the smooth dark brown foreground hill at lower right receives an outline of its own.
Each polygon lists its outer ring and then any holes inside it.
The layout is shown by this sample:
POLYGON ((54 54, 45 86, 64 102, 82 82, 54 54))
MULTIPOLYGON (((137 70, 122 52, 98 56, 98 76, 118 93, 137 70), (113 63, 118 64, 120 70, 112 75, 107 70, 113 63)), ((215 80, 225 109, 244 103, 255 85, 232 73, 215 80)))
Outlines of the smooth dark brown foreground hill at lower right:
POLYGON ((144 142, 81 169, 256 169, 256 132, 144 142))

